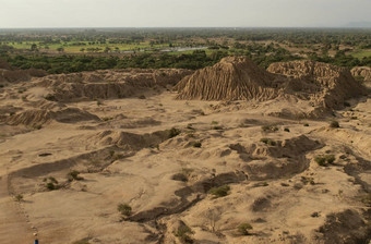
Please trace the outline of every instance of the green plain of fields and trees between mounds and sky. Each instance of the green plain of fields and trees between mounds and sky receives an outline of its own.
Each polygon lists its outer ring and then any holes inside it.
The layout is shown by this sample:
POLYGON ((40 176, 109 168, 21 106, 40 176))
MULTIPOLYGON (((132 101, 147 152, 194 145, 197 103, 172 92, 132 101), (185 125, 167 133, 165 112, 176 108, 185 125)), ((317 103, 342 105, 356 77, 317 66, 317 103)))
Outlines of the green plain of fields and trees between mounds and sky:
POLYGON ((120 28, 8 29, 0 58, 21 69, 71 73, 124 68, 201 69, 226 56, 262 68, 310 59, 339 66, 371 65, 369 29, 120 28))

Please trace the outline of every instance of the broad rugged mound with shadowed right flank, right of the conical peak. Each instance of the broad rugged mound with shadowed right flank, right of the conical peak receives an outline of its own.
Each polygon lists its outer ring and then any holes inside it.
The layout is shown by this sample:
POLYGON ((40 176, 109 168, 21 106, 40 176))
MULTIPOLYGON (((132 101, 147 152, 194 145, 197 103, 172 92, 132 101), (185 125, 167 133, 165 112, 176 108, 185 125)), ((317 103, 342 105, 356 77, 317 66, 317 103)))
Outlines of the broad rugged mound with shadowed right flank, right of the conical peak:
POLYGON ((315 61, 279 62, 267 71, 287 76, 286 91, 310 100, 314 107, 334 109, 362 95, 362 86, 349 70, 315 61))

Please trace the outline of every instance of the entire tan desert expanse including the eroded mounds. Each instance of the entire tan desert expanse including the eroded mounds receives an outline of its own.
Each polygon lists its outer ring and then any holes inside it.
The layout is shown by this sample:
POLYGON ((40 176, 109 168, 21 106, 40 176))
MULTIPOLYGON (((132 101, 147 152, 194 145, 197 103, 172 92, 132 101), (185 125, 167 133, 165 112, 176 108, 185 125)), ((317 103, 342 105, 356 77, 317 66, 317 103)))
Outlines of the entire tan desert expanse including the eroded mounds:
POLYGON ((368 68, 0 68, 0 243, 371 239, 368 68))

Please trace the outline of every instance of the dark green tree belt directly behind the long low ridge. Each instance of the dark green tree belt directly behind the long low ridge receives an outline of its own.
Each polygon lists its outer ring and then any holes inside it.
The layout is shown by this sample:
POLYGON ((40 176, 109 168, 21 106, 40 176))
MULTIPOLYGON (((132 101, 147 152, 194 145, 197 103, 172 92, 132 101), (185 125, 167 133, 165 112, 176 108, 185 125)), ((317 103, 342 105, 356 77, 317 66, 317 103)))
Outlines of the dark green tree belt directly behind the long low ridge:
POLYGON ((21 69, 41 69, 48 73, 71 73, 106 69, 201 69, 218 62, 227 52, 217 51, 207 56, 205 51, 193 51, 190 54, 139 53, 119 57, 94 56, 3 56, 1 57, 13 66, 21 69))

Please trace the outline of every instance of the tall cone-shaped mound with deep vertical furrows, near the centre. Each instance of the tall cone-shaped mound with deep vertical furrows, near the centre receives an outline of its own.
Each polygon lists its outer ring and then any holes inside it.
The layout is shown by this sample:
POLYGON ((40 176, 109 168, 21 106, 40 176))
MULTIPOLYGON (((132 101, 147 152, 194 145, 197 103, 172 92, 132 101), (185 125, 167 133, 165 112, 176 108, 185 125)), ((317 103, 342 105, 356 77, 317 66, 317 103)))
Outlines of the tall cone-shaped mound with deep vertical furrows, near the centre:
POLYGON ((228 57, 184 77, 175 89, 178 99, 268 100, 280 94, 277 78, 244 57, 228 57))

